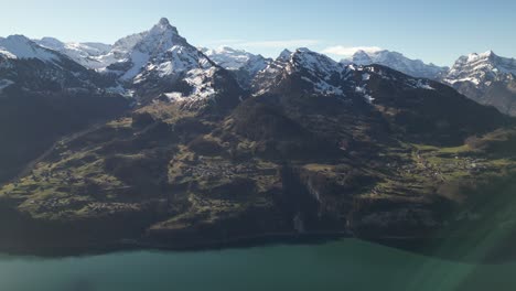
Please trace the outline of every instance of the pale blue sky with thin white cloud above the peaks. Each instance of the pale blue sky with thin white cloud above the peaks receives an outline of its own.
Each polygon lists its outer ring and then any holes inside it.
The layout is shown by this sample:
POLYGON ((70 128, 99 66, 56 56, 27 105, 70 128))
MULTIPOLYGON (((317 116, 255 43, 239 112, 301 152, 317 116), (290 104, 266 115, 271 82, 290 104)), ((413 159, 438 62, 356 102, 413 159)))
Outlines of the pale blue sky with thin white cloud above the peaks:
POLYGON ((168 18, 196 46, 276 57, 309 47, 340 60, 391 50, 427 63, 493 50, 516 57, 513 0, 0 0, 0 36, 114 43, 168 18))

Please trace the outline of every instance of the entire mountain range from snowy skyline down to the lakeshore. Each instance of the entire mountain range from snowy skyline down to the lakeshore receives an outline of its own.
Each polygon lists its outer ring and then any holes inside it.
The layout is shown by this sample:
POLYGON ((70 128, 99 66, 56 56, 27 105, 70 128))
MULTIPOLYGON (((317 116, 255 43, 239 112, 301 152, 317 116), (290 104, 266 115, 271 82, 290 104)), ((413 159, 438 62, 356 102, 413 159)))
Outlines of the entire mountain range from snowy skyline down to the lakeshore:
POLYGON ((515 120, 481 105, 502 110, 513 66, 269 60, 166 19, 114 45, 0 39, 0 248, 516 238, 515 120))

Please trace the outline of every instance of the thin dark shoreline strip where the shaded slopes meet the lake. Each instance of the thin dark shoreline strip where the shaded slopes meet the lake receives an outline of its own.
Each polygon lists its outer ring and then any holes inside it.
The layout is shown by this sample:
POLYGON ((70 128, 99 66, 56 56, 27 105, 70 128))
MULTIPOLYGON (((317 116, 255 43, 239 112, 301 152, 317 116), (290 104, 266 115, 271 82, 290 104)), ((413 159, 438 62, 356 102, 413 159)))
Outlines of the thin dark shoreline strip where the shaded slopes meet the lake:
MULTIPOLYGON (((90 244, 85 246, 67 247, 43 247, 43 248, 12 248, 1 247, 0 252, 8 256, 35 257, 43 259, 104 256, 125 251, 211 251, 224 249, 245 249, 255 247, 267 247, 275 245, 323 245, 335 242, 341 239, 358 239, 369 244, 376 244, 384 247, 410 251, 428 257, 439 257, 451 261, 475 262, 484 265, 499 265, 516 259, 516 254, 499 250, 476 258, 475 249, 471 252, 467 249, 460 248, 461 238, 459 237, 357 237, 348 231, 312 231, 305 234, 298 233, 269 233, 254 236, 241 236, 230 239, 212 239, 200 244, 163 244, 152 239, 122 239, 119 241, 106 244, 90 244), (450 244, 451 242, 451 244, 450 244), (444 246, 444 248, 443 248, 444 246), (451 246, 451 248, 450 248, 451 246), (449 247, 448 249, 445 247, 449 247)), ((464 238, 462 238, 464 239, 464 238)))

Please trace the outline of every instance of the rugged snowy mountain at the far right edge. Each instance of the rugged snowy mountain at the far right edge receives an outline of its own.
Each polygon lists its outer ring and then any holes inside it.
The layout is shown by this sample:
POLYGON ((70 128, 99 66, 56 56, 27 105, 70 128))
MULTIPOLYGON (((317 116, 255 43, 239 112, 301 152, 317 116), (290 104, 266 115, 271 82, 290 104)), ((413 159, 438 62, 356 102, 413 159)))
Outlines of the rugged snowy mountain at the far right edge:
POLYGON ((443 82, 473 100, 516 115, 516 60, 488 51, 461 56, 443 82))

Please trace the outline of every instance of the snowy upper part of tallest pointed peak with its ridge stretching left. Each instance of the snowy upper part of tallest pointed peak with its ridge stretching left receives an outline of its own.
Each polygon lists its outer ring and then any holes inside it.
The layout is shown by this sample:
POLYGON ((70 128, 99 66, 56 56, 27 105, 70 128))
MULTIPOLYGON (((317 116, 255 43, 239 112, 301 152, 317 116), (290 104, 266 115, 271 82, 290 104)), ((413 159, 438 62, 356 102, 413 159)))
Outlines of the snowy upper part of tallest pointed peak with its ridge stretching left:
POLYGON ((63 43, 52 37, 36 41, 61 52, 87 68, 117 73, 120 79, 142 79, 144 71, 161 76, 205 66, 207 58, 182 37, 166 19, 149 31, 120 39, 114 45, 100 43, 63 43))

